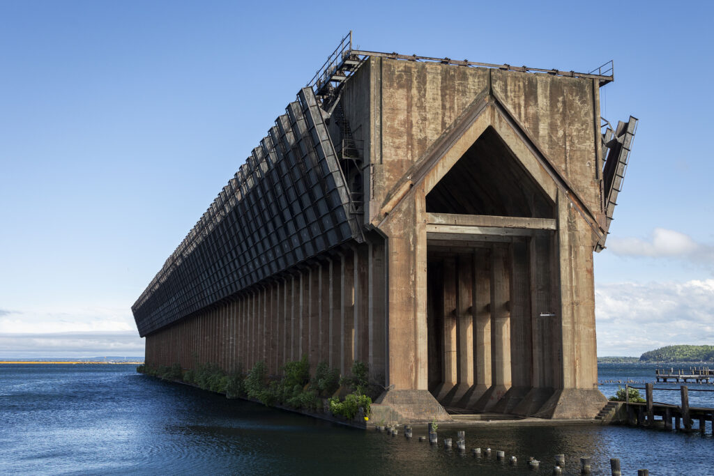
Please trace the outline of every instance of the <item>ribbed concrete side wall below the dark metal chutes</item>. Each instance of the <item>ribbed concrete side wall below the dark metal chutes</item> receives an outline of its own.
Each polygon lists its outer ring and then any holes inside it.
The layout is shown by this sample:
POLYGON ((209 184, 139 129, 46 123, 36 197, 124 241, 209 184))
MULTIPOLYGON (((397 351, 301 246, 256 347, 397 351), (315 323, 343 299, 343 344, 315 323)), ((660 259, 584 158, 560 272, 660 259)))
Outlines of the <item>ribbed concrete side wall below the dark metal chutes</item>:
POLYGON ((263 360, 271 375, 308 356, 343 375, 354 360, 384 382, 384 245, 345 248, 294 273, 265 281, 234 300, 146 336, 146 363, 216 363, 229 373, 263 360))

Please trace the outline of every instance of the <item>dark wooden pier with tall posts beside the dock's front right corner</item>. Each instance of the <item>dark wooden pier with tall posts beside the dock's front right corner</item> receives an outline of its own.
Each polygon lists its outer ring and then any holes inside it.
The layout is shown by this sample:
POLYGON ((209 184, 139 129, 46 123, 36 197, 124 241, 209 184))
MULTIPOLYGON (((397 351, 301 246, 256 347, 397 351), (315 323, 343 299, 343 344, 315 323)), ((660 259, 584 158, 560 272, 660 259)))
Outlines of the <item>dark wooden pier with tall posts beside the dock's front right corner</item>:
POLYGON ((653 383, 645 384, 644 388, 630 387, 625 385, 625 395, 628 395, 625 400, 625 409, 627 411, 627 422, 630 425, 639 425, 646 427, 655 427, 662 425, 665 430, 690 431, 695 420, 699 422, 698 430, 702 433, 706 430, 706 422, 712 422, 712 430, 714 432, 714 408, 690 407, 689 392, 712 392, 709 389, 689 389, 686 385, 682 385, 679 389, 676 388, 654 388, 653 383), (637 388, 645 390, 645 402, 630 402, 628 390, 637 388), (679 391, 681 395, 680 405, 671 405, 668 403, 655 402, 653 400, 653 390, 658 391, 679 391), (674 419, 674 426, 672 424, 674 419))

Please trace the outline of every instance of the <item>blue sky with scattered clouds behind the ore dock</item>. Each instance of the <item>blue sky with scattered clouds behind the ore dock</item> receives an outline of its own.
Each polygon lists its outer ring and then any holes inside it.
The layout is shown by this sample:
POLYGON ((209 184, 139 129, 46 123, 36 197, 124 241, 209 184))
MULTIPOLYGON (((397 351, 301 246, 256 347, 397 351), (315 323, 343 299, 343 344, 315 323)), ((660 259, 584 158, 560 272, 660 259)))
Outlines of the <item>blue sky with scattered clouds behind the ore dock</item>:
POLYGON ((600 355, 714 343, 709 2, 0 0, 0 358, 142 355, 131 304, 353 29, 362 49, 590 71, 640 118, 600 355))

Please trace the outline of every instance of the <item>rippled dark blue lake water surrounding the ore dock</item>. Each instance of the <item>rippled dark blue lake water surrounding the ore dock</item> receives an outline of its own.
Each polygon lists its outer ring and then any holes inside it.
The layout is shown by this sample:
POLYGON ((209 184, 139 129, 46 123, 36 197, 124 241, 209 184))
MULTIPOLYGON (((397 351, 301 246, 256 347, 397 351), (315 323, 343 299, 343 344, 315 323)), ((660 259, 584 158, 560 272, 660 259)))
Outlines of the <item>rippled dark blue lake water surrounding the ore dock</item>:
MULTIPOLYGON (((651 379, 631 365, 604 366, 600 377, 635 378, 635 371, 651 379)), ((493 449, 491 459, 477 460, 418 442, 425 430, 415 428, 413 440, 355 430, 163 383, 132 365, 0 365, 1 474, 514 475, 534 474, 526 470, 534 456, 543 462, 538 474, 549 475, 558 453, 566 455, 566 474, 577 474, 580 456, 593 458, 596 475, 610 474, 610 457, 620 457, 624 474, 714 468, 710 435, 593 425, 467 428, 468 448, 493 449), (518 467, 497 463, 496 450, 516 455, 518 467)), ((440 438, 456 430, 442 428, 440 438)))

